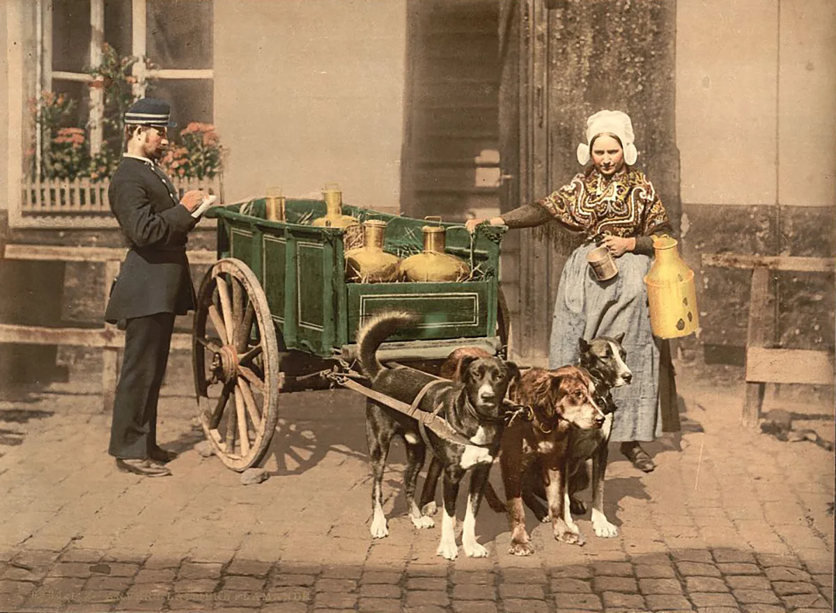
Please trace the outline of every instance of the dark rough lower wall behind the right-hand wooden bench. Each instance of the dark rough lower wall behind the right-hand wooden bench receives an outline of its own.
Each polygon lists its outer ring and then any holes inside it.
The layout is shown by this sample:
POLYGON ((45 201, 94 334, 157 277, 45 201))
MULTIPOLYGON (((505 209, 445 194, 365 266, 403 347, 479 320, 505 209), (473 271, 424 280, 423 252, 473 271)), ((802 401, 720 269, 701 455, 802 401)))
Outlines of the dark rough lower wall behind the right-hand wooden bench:
MULTIPOLYGON (((752 273, 701 267, 701 255, 781 253, 834 258, 833 209, 684 204, 682 210, 687 220, 683 254, 699 272, 700 341, 706 359, 742 363, 752 273), (780 249, 777 248, 779 232, 780 249)), ((772 338, 774 345, 833 351, 833 274, 777 272, 772 277, 770 291, 777 299, 777 309, 767 338, 772 338)))

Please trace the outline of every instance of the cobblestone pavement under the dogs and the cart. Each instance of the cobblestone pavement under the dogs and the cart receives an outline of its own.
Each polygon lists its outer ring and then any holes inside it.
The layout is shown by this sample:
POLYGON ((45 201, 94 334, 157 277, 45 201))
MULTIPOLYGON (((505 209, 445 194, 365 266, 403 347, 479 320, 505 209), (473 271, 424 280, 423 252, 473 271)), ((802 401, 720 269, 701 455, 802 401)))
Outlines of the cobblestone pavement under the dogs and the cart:
MULTIPOLYGON (((514 557, 506 519, 486 505, 477 534, 489 556, 460 548, 454 562, 436 557, 440 527, 405 518, 402 446, 384 482, 390 536, 370 538, 363 402, 349 392, 283 396, 272 477, 253 486, 193 449, 189 398, 161 401, 161 442, 181 451, 174 476, 143 479, 106 455, 100 396, 7 394, 0 610, 832 610, 833 454, 740 430, 738 376, 701 381, 681 367, 683 433, 649 446, 654 473, 614 446, 605 500, 617 538, 596 538, 588 513, 588 543, 558 543, 529 515, 536 553, 514 557)), ((770 401, 832 440, 832 401, 770 401)))

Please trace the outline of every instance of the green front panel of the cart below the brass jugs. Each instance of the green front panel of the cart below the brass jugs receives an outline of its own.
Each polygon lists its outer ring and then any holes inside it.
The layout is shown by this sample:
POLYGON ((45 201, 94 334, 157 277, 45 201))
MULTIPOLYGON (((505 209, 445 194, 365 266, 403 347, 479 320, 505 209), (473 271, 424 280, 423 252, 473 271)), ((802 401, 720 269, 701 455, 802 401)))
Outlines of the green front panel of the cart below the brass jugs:
POLYGON ((495 335, 496 321, 487 300, 490 283, 349 284, 349 340, 367 318, 390 310, 421 315, 421 324, 404 329, 390 340, 476 338, 495 335))

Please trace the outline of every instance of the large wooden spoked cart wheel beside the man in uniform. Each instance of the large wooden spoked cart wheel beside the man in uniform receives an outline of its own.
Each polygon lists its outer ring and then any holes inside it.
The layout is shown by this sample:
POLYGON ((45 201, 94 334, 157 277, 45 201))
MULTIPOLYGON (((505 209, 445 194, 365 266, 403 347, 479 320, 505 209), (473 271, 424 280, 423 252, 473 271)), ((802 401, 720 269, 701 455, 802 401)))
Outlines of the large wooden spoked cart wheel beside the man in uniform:
POLYGON ((281 373, 267 298, 241 260, 219 260, 206 272, 192 351, 206 438, 232 470, 256 466, 276 428, 281 373))

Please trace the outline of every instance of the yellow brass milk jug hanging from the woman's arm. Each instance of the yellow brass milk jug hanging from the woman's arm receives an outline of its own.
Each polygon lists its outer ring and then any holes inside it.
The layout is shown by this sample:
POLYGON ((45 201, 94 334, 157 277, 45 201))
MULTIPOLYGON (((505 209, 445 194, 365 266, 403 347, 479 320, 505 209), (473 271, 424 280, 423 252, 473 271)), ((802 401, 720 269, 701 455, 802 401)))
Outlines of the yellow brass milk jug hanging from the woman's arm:
POLYGON ((654 238, 656 255, 645 276, 650 328, 660 339, 687 336, 700 326, 694 271, 682 261, 676 244, 669 236, 654 238))

